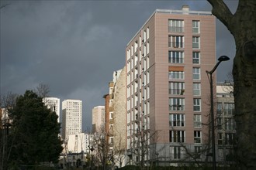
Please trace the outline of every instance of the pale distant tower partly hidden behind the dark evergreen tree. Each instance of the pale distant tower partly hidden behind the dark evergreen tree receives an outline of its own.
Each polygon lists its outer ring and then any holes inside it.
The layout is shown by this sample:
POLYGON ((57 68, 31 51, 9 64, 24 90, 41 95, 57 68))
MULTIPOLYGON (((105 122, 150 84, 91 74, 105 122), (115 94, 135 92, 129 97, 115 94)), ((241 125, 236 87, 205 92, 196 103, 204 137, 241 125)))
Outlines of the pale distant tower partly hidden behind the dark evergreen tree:
POLYGON ((55 111, 58 117, 57 122, 60 123, 60 112, 61 112, 60 99, 57 97, 44 97, 43 103, 47 106, 48 109, 55 111))

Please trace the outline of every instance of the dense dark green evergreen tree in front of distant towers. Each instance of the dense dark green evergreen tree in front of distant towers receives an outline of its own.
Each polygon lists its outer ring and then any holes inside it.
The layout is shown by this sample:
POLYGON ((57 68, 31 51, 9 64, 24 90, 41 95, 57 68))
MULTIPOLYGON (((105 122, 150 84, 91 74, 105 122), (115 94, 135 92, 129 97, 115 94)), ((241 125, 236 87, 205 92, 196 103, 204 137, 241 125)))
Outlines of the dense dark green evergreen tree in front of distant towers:
POLYGON ((57 114, 47 109, 42 98, 27 90, 9 110, 12 128, 9 133, 9 162, 18 165, 37 165, 57 162, 62 151, 58 137, 61 124, 57 114))

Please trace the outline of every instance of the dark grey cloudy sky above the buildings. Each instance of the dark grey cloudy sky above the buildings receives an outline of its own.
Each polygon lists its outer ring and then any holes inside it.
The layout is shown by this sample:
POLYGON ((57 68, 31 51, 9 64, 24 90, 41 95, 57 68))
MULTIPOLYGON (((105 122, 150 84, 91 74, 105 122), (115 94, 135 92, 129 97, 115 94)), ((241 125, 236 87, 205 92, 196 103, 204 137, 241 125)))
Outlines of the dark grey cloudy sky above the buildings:
MULTIPOLYGON (((231 12, 237 0, 225 1, 231 12)), ((126 44, 157 8, 211 11, 206 0, 1 1, 1 93, 23 94, 39 83, 50 96, 83 101, 83 130, 92 108, 104 105, 112 72, 125 64, 126 44)), ((218 67, 227 80, 235 46, 216 19, 216 54, 230 56, 218 67)))

